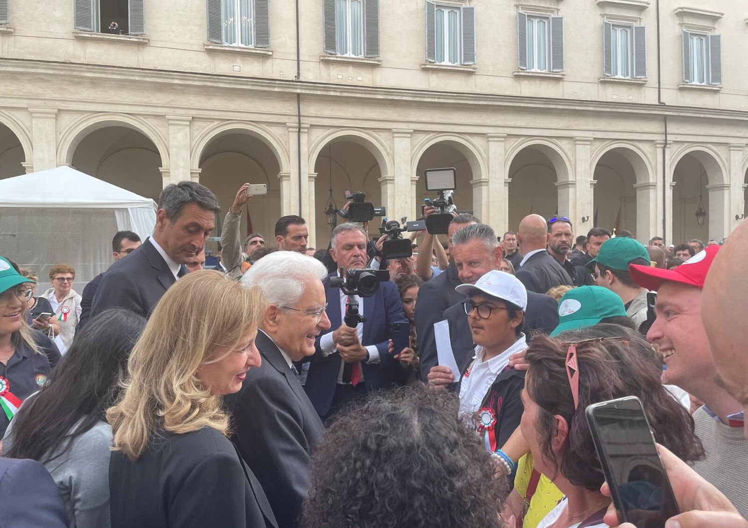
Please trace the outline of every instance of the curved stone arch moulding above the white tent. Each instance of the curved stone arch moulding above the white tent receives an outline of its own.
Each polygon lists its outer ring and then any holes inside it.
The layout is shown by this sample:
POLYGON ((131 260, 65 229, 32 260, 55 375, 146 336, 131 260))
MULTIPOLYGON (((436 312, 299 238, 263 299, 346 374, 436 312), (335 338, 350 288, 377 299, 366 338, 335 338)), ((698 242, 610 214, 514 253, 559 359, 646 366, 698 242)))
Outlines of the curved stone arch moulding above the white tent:
POLYGON ((169 149, 163 134, 146 119, 130 114, 100 113, 81 117, 62 133, 57 149, 58 165, 71 164, 79 143, 89 134, 101 128, 121 126, 131 128, 147 137, 159 151, 161 166, 169 167, 169 149))

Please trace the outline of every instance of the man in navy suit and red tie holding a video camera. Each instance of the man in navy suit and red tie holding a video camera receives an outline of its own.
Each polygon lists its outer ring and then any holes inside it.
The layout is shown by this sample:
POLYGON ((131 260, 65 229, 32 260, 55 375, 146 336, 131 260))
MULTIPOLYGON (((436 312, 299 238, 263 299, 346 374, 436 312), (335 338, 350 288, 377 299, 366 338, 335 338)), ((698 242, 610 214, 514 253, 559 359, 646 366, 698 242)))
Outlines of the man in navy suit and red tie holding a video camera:
MULTIPOLYGON (((363 280, 358 285, 361 273, 349 273, 367 265, 364 229, 343 223, 333 229, 331 238, 330 255, 339 268, 325 284, 326 313, 332 326, 316 339, 316 352, 310 358, 304 385, 322 420, 367 391, 402 383, 405 376, 405 370, 393 358, 400 350, 390 350, 392 323, 406 320, 396 286, 387 278, 373 287, 364 285, 363 280), (342 288, 331 285, 343 281, 342 288), (346 320, 352 322, 353 310, 346 308, 357 303, 358 314, 365 320, 350 326, 346 320)), ((365 273, 365 279, 371 281, 376 272, 365 273)), ((388 276, 387 271, 379 273, 388 276)))

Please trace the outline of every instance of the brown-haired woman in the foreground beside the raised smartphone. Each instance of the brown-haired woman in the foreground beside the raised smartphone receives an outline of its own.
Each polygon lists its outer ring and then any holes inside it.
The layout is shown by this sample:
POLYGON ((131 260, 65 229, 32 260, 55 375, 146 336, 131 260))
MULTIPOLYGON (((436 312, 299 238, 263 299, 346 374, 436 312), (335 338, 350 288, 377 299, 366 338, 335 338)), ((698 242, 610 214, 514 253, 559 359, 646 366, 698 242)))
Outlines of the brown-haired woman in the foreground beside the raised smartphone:
POLYGON ((592 403, 639 397, 658 443, 685 462, 703 456, 693 419, 663 388, 662 361, 637 332, 600 324, 555 339, 536 336, 525 359, 521 432, 535 468, 565 495, 538 528, 607 526, 610 499, 600 493, 603 471, 584 416, 592 403))

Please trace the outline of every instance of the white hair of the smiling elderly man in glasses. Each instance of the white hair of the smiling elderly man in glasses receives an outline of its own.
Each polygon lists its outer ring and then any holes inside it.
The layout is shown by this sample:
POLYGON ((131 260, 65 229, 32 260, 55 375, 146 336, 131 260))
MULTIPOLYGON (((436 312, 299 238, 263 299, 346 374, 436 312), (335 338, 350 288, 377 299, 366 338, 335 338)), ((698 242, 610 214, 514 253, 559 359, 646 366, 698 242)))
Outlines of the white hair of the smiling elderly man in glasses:
POLYGON ((242 285, 260 286, 269 304, 293 306, 307 284, 322 281, 327 274, 325 264, 316 258, 295 251, 277 251, 249 268, 242 276, 242 285))

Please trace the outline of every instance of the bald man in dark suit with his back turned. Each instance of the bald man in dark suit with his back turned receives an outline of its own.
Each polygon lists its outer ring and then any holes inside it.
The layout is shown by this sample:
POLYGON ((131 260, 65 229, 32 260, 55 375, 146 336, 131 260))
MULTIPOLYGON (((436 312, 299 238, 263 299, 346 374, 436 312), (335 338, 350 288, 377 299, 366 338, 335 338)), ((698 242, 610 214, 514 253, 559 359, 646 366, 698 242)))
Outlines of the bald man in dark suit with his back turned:
POLYGON ((519 223, 517 240, 524 258, 516 276, 524 287, 535 293, 545 293, 560 285, 574 283, 561 264, 548 254, 548 223, 539 214, 529 214, 519 223))

